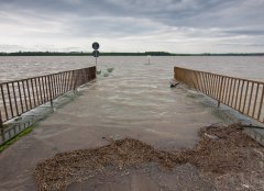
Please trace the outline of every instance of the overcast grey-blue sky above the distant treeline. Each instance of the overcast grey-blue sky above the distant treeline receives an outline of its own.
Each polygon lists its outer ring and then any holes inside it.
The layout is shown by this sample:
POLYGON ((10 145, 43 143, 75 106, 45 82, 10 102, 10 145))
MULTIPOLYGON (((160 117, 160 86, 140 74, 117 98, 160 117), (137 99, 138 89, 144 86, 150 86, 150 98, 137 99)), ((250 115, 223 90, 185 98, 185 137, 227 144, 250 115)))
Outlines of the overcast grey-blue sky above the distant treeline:
POLYGON ((264 52, 264 0, 0 0, 0 52, 264 52))

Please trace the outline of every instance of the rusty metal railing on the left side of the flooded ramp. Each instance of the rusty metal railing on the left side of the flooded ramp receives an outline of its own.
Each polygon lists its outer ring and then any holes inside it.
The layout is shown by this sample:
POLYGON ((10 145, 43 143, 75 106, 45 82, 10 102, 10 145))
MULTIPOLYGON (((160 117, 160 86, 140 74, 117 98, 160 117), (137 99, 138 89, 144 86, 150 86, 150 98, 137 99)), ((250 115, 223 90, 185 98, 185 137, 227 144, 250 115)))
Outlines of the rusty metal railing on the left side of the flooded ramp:
POLYGON ((0 130, 3 123, 75 90, 96 78, 96 67, 0 83, 0 130))

